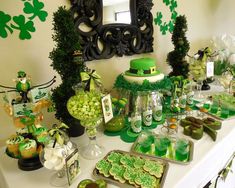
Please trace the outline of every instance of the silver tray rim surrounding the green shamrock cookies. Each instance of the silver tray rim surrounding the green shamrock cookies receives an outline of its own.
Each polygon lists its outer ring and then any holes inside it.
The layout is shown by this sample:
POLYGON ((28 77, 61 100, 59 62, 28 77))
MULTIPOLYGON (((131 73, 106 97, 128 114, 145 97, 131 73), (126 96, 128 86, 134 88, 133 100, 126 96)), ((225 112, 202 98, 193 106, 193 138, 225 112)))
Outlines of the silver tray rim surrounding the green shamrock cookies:
MULTIPOLYGON (((130 153, 130 152, 122 151, 122 150, 112 150, 112 151, 108 152, 107 155, 103 159, 106 159, 111 152, 128 154, 130 156, 138 156, 138 157, 141 157, 141 158, 144 158, 144 159, 149 159, 151 161, 160 161, 164 165, 164 170, 163 170, 162 177, 161 177, 161 180, 160 180, 160 185, 159 185, 158 188, 163 188, 163 184, 165 183, 165 179, 166 179, 166 174, 167 174, 168 169, 169 169, 169 164, 166 161, 161 160, 161 159, 156 159, 156 158, 154 159, 154 158, 151 158, 151 157, 148 157, 148 156, 139 155, 138 153, 130 153)), ((96 168, 93 170, 93 175, 96 178, 103 179, 103 180, 107 181, 108 183, 114 184, 114 185, 116 185, 118 187, 121 187, 121 188, 133 188, 133 187, 135 187, 134 185, 131 185, 129 183, 121 183, 121 182, 115 180, 112 177, 105 177, 105 176, 103 176, 103 174, 100 174, 99 171, 96 168)))

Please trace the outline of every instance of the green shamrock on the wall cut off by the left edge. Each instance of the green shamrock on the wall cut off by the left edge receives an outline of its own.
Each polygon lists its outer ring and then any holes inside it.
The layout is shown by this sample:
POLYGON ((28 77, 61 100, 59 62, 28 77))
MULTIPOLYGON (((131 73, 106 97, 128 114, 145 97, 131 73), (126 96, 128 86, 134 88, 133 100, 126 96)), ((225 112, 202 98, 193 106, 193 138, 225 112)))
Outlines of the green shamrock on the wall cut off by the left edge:
POLYGON ((8 36, 7 30, 10 33, 13 33, 13 30, 7 23, 11 20, 11 16, 9 14, 5 14, 0 11, 0 37, 6 38, 8 36))

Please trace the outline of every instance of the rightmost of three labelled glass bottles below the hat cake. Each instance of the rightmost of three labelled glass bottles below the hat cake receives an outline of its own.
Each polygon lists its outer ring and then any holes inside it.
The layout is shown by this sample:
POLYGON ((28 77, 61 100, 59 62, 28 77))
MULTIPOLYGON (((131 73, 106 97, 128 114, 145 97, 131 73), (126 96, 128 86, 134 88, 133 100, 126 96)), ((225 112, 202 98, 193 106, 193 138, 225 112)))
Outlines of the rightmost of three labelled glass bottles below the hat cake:
POLYGON ((155 121, 162 120, 162 100, 159 92, 153 94, 153 119, 155 121))

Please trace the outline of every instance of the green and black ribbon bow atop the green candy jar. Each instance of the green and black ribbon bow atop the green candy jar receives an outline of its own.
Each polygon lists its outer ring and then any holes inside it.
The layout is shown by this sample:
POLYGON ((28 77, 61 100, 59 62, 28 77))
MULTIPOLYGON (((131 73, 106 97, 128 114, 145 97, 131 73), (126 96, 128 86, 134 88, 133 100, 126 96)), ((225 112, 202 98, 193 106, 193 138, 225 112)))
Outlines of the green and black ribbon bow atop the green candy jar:
POLYGON ((84 82, 85 85, 85 90, 91 91, 95 90, 96 86, 100 87, 101 86, 101 80, 100 80, 100 75, 96 73, 95 70, 89 70, 87 72, 81 72, 81 80, 84 82))

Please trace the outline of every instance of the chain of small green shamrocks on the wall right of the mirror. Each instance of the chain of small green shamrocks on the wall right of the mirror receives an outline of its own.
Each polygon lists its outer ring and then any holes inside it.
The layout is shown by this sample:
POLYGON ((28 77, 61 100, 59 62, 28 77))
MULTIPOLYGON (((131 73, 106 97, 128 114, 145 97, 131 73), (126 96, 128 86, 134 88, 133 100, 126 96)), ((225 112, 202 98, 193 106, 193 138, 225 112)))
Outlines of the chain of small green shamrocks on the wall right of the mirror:
POLYGON ((163 14, 162 12, 159 11, 156 13, 156 18, 154 19, 154 22, 156 25, 160 27, 161 33, 165 35, 167 31, 169 31, 170 33, 173 32, 174 23, 178 15, 175 9, 177 8, 178 4, 177 4, 177 0, 163 0, 163 3, 169 8, 170 13, 171 13, 171 19, 168 22, 166 21, 163 22, 162 21, 163 14))

